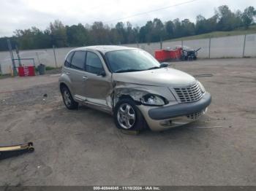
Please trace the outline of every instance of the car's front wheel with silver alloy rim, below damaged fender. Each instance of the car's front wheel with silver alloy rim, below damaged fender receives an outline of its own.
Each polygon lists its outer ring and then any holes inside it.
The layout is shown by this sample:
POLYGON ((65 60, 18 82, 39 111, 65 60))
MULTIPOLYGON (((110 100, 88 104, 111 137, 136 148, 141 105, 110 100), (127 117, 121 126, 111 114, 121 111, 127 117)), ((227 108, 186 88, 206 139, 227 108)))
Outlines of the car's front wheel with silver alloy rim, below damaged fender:
POLYGON ((146 121, 140 109, 129 98, 118 101, 114 109, 114 120, 116 127, 123 130, 143 130, 146 121))

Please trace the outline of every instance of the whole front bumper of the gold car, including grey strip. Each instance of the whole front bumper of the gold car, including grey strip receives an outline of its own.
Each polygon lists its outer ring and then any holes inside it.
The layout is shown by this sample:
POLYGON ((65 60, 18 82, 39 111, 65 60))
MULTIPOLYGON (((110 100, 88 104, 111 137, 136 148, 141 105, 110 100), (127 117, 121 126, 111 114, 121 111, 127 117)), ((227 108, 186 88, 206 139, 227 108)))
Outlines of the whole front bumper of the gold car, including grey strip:
POLYGON ((199 101, 169 106, 138 106, 151 130, 165 130, 199 119, 211 104, 210 93, 205 93, 199 101))

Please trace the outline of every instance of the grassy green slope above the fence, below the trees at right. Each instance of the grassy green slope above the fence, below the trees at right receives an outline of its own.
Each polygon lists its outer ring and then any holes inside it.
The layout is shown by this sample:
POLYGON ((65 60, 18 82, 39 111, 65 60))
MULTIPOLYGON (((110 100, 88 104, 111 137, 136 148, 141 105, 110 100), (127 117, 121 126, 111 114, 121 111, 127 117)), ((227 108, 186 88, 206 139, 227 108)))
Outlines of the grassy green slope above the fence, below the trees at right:
POLYGON ((181 41, 181 40, 194 40, 194 39, 208 39, 208 38, 216 38, 222 36, 236 36, 243 34, 256 34, 256 25, 250 26, 248 29, 238 28, 234 31, 215 31, 207 34, 198 34, 195 36, 186 36, 178 39, 169 39, 165 42, 173 42, 173 41, 181 41))

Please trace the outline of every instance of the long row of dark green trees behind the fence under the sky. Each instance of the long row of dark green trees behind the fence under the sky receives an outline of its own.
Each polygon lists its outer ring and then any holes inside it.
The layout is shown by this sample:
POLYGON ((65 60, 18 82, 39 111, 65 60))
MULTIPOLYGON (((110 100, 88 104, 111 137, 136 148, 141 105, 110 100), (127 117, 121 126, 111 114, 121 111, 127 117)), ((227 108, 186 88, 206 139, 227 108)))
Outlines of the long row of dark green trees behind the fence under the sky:
POLYGON ((118 22, 108 26, 101 21, 92 25, 64 26, 59 20, 50 23, 45 31, 31 27, 16 30, 12 37, 0 38, 0 51, 7 50, 7 39, 12 47, 18 45, 20 50, 43 49, 53 47, 81 47, 92 44, 129 44, 137 42, 159 42, 183 36, 205 34, 212 31, 232 31, 236 28, 249 28, 255 24, 256 10, 247 7, 244 12, 232 12, 227 5, 218 7, 212 17, 197 15, 195 23, 189 19, 168 20, 159 18, 148 20, 145 26, 133 27, 132 23, 118 22))

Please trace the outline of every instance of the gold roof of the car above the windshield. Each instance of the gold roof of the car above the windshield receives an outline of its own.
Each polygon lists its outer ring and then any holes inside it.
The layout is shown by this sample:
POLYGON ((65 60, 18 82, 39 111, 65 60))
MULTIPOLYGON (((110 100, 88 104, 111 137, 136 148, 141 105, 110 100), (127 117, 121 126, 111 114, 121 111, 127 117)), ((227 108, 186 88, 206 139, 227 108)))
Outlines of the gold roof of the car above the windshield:
POLYGON ((138 50, 138 48, 113 46, 113 45, 99 45, 99 46, 79 47, 79 48, 76 48, 75 50, 98 50, 105 54, 105 52, 110 52, 115 50, 138 50))

